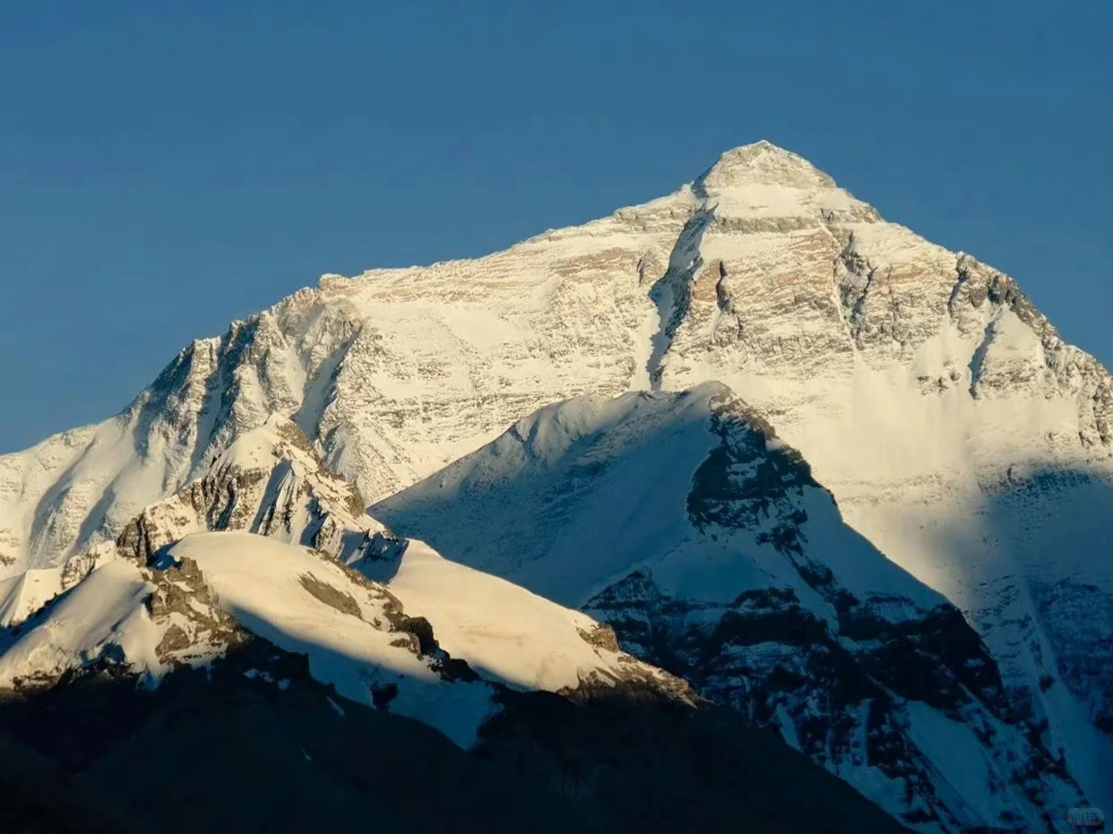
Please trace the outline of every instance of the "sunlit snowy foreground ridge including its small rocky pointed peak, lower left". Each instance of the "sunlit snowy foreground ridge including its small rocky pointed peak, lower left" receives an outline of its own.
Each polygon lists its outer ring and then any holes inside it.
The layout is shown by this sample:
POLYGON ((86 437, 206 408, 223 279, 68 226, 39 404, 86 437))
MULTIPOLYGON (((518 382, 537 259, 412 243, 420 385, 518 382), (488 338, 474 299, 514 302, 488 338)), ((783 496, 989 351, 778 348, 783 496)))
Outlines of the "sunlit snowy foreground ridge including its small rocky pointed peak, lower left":
POLYGON ((498 685, 638 683, 690 701, 682 682, 619 652, 590 617, 400 542, 278 417, 239 435, 115 542, 0 592, 0 691, 104 663, 156 686, 250 634, 306 655, 311 674, 344 697, 462 746, 496 711, 498 685), (387 564, 378 578, 388 584, 366 578, 387 564))

